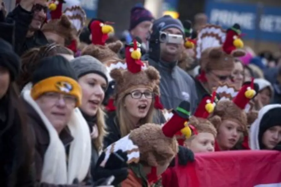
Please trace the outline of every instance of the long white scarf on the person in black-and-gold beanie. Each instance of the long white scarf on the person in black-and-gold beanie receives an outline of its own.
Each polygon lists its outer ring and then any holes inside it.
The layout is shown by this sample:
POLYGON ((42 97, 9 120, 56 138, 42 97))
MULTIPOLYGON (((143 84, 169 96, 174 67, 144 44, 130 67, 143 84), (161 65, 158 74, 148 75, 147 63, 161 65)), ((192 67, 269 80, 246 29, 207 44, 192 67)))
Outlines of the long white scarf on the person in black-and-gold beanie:
POLYGON ((50 143, 44 155, 41 182, 49 184, 72 184, 77 178, 83 181, 90 168, 91 138, 87 122, 79 109, 75 109, 68 124, 74 140, 69 150, 68 166, 66 164, 65 147, 58 133, 30 96, 30 89, 25 86, 22 96, 41 117, 50 136, 50 143))

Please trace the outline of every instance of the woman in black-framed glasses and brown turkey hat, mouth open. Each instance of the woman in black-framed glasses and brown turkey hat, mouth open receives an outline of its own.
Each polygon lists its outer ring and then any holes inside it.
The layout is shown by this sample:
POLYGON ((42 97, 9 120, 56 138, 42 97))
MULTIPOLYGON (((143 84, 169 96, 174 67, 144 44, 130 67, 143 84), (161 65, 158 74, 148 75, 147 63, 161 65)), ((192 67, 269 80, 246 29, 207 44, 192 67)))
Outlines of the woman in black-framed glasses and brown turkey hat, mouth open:
POLYGON ((128 69, 113 69, 110 76, 115 80, 116 110, 108 113, 106 124, 109 134, 105 137, 107 147, 128 135, 131 130, 145 123, 151 123, 154 111, 153 88, 159 81, 159 72, 149 66, 127 60, 128 69))

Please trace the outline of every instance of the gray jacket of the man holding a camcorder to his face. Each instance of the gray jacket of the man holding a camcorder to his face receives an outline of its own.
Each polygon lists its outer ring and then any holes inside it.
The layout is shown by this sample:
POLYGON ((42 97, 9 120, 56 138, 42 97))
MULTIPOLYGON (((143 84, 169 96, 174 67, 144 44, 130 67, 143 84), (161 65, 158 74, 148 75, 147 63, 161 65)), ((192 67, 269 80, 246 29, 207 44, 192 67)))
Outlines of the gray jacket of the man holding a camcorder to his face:
POLYGON ((176 63, 155 62, 148 59, 149 65, 155 67, 161 76, 161 102, 165 109, 175 109, 183 100, 189 101, 191 112, 197 107, 198 97, 194 80, 176 63))

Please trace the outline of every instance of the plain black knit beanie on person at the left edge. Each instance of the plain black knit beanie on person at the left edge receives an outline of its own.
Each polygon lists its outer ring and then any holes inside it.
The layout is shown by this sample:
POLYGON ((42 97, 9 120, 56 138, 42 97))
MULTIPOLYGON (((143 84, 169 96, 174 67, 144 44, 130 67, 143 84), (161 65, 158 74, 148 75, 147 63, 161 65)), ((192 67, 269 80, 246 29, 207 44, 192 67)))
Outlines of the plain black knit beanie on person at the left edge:
POLYGON ((13 51, 11 44, 0 38, 0 66, 7 68, 10 72, 11 81, 19 73, 21 60, 19 56, 13 51))

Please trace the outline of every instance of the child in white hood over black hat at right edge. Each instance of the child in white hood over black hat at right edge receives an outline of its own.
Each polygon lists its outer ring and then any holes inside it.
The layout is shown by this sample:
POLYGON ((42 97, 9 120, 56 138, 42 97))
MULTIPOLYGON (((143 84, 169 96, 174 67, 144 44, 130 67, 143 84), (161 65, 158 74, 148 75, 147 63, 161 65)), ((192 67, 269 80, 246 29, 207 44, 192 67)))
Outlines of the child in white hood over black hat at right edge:
POLYGON ((258 118, 250 127, 251 149, 274 149, 281 151, 281 105, 267 105, 260 109, 258 118))

